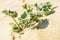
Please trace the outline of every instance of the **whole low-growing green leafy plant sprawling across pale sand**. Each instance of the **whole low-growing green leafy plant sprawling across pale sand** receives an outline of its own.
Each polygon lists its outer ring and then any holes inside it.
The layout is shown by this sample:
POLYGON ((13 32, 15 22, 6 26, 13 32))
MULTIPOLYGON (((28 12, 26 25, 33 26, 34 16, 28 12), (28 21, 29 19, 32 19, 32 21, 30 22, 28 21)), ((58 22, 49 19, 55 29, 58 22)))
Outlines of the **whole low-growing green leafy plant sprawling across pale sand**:
POLYGON ((35 4, 23 4, 24 12, 21 17, 16 21, 18 13, 12 10, 3 10, 2 13, 10 16, 15 23, 10 23, 12 32, 20 33, 26 28, 34 28, 36 23, 42 23, 41 17, 48 16, 52 10, 50 2, 46 3, 35 3, 35 4))

